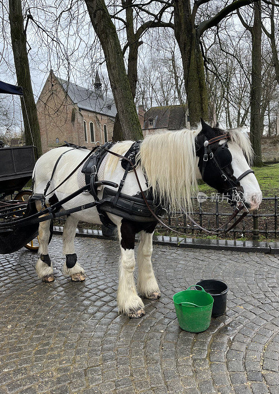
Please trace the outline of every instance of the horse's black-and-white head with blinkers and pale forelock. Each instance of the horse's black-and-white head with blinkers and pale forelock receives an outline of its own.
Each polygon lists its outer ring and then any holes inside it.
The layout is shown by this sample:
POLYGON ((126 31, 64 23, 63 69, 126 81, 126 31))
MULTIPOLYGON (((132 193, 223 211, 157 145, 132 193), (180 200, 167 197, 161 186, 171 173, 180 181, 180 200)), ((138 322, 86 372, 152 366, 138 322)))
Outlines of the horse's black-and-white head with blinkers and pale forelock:
POLYGON ((212 128, 201 120, 202 130, 196 137, 196 155, 202 179, 229 202, 244 202, 249 210, 257 209, 262 200, 258 181, 248 162, 252 150, 248 137, 241 131, 212 128))

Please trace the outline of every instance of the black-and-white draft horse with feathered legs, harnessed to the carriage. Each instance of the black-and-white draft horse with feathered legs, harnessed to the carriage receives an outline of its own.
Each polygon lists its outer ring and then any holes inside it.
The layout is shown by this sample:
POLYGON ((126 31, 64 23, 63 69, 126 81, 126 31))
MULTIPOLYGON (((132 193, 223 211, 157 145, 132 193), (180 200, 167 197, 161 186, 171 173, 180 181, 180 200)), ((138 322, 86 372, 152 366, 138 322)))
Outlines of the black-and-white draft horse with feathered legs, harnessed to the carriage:
MULTIPOLYGON (((115 143, 111 151, 124 155, 133 141, 115 143)), ((43 193, 51 178, 57 159, 66 152, 55 169, 50 193, 46 197, 46 204, 61 200, 79 189, 76 173, 67 179, 61 187, 52 192, 88 155, 87 149, 72 149, 60 147, 50 150, 41 156, 33 171, 34 193, 43 193), (68 150, 68 152, 66 152, 68 150)), ((241 202, 247 210, 259 207, 262 193, 257 179, 250 169, 253 152, 248 139, 241 130, 223 130, 219 125, 211 127, 203 120, 197 130, 178 130, 155 133, 146 136, 140 145, 137 155, 136 172, 143 191, 151 190, 154 198, 165 204, 171 210, 191 209, 191 196, 198 190, 197 180, 202 178, 218 193, 233 192, 241 195, 241 202), (207 143, 210 143, 210 157, 208 157, 207 143), (211 160, 216 156, 216 160, 211 160), (234 182, 235 187, 232 187, 234 182), (234 190, 233 190, 234 189, 234 190)), ((103 170, 103 179, 120 184, 124 169, 118 157, 107 153, 107 161, 103 170)), ((135 196, 140 188, 134 171, 127 173, 122 193, 135 196)), ((102 198, 103 191, 98 192, 102 198)), ((93 201, 90 193, 82 193, 65 204, 64 209, 86 204, 93 201)), ((108 213, 109 219, 115 224, 120 242, 119 285, 117 305, 119 313, 130 318, 144 315, 144 303, 141 299, 158 299, 160 290, 155 278, 151 256, 152 237, 157 224, 152 222, 134 222, 123 217, 108 213), (135 235, 140 233, 138 247, 138 278, 137 290, 134 281, 135 268, 135 235)), ((63 273, 73 281, 85 280, 83 267, 78 263, 74 249, 74 237, 79 221, 101 224, 96 207, 70 214, 65 222, 62 234, 63 254, 66 261, 63 273)), ((43 282, 54 280, 53 265, 48 255, 48 240, 50 236, 50 221, 39 225, 40 246, 36 272, 43 282)))

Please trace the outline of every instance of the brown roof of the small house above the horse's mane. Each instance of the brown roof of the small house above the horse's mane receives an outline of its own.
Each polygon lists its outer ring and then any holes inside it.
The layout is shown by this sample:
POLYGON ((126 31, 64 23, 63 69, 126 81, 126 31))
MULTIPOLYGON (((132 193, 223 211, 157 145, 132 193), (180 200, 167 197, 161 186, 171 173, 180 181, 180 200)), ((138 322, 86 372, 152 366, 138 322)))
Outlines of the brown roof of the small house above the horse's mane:
POLYGON ((144 129, 150 129, 149 119, 153 119, 153 129, 180 130, 186 127, 188 105, 169 105, 165 107, 151 107, 144 114, 144 129))

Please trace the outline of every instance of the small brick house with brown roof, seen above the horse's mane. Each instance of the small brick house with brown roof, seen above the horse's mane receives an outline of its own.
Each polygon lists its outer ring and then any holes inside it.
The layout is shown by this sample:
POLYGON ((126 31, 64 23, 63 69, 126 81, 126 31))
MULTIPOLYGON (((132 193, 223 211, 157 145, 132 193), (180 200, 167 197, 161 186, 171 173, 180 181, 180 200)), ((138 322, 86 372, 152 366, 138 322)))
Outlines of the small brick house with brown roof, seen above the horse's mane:
POLYGON ((187 104, 151 107, 145 113, 142 108, 139 108, 139 117, 140 120, 143 119, 142 132, 144 136, 166 129, 190 128, 187 104))

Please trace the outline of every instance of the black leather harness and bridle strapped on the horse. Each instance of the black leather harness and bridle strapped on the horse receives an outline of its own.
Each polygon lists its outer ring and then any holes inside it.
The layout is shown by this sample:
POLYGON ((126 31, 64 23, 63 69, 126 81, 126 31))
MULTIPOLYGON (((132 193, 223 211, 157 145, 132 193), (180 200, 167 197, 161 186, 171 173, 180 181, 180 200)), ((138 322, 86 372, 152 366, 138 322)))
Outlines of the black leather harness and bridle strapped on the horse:
MULTIPOLYGON (((231 177, 228 177, 225 174, 225 172, 223 171, 223 169, 221 168, 222 165, 219 165, 219 163, 217 162, 217 160, 214 157, 214 154, 211 150, 211 147, 210 147, 210 145, 212 143, 215 143, 221 139, 226 139, 226 141, 227 141, 228 136, 226 134, 223 134, 223 135, 217 136, 215 138, 212 138, 210 140, 207 140, 205 137, 205 141, 204 141, 205 152, 204 152, 203 166, 202 166, 202 171, 201 171, 202 178, 204 176, 204 170, 205 170, 208 160, 212 160, 213 163, 216 165, 217 169, 219 170, 220 176, 225 181, 228 181, 228 183, 230 184, 231 187, 228 188, 227 190, 232 190, 233 192, 236 192, 237 183, 241 179, 243 179, 246 175, 248 175, 249 173, 254 173, 254 171, 252 169, 248 169, 243 174, 241 174, 236 180, 233 180, 231 177)), ((110 213, 116 214, 117 216, 121 216, 121 217, 124 217, 129 220, 135 220, 135 221, 141 221, 141 222, 146 222, 146 221, 156 222, 157 221, 160 224, 162 224, 164 227, 166 227, 167 229, 181 234, 181 232, 171 229, 170 227, 168 227, 165 223, 163 223, 161 221, 161 219, 156 215, 156 213, 159 214, 159 212, 161 212, 161 210, 162 210, 162 207, 160 207, 158 204, 156 204, 152 200, 152 197, 150 196, 150 194, 148 196, 147 192, 144 192, 142 190, 142 187, 141 187, 141 184, 140 184, 137 172, 136 172, 136 166, 139 164, 136 162, 136 155, 140 149, 140 143, 141 143, 141 141, 134 142, 131 145, 131 147, 129 148, 129 150, 126 152, 126 154, 123 156, 123 155, 120 155, 118 153, 111 151, 110 149, 114 143, 108 142, 102 146, 94 147, 93 154, 91 151, 90 154, 88 154, 83 159, 83 161, 78 165, 78 167, 79 167, 81 164, 85 163, 82 168, 82 172, 85 173, 86 187, 82 188, 82 191, 89 190, 89 192, 92 194, 92 196, 95 199, 94 203, 87 204, 87 205, 96 206, 99 216, 100 216, 100 220, 105 226, 108 226, 109 224, 115 226, 115 224, 108 218, 108 216, 106 214, 106 212, 110 212, 110 213), (117 185, 114 182, 97 179, 98 169, 99 169, 100 164, 103 161, 103 159, 107 153, 117 156, 122 160, 121 165, 124 168, 124 175, 123 175, 123 178, 122 178, 119 185, 117 185), (126 178, 127 173, 129 171, 134 171, 134 174, 135 174, 135 177, 136 177, 139 189, 140 189, 140 193, 136 196, 128 196, 128 195, 124 195, 121 193, 125 178, 126 178), (117 190, 117 192, 115 192, 111 189, 104 188, 103 198, 100 200, 97 196, 97 187, 100 185, 112 186, 114 188, 118 187, 118 190, 117 190), (146 210, 146 208, 148 209, 148 211, 146 210), (156 211, 156 213, 155 213, 155 211, 156 211), (148 212, 150 212, 150 213, 148 214, 148 212)), ((67 146, 70 146, 71 149, 80 149, 80 148, 84 149, 84 147, 78 147, 76 145, 72 145, 72 144, 68 144, 68 143, 66 143, 66 144, 67 144, 67 146)), ((223 148, 225 148, 224 145, 225 144, 223 144, 223 148)), ((68 152, 68 151, 66 151, 66 152, 68 152)), ((47 190, 50 186, 50 183, 52 181, 57 164, 58 164, 59 160, 61 159, 61 157, 66 152, 62 153, 62 155, 58 158, 58 160, 54 166, 51 178, 50 178, 49 182, 47 183, 46 189, 45 189, 44 194, 42 196, 42 199, 41 199, 42 201, 45 201, 45 197, 47 196, 46 192, 47 192, 47 190)), ((230 163, 231 163, 231 161, 230 161, 230 163)), ((228 164, 230 164, 230 163, 228 163, 228 164)), ((62 183, 65 182, 77 170, 78 167, 76 167, 64 179, 64 181, 62 181, 62 183)), ((58 189, 62 185, 62 183, 60 185, 58 185, 55 189, 53 189, 52 192, 54 190, 58 189)), ((78 193, 78 191, 76 193, 78 193)), ((66 197, 67 200, 68 200, 68 198, 69 197, 66 197)), ((242 201, 241 197, 240 197, 240 200, 242 201)), ((44 204, 42 203, 42 206, 45 206, 45 203, 44 204)), ((77 207, 77 208, 79 208, 79 207, 77 207)), ((75 212, 78 211, 77 208, 74 209, 75 212)), ((50 208, 48 208, 48 210, 49 209, 50 208)), ((86 209, 86 208, 82 208, 82 209, 86 209)), ((225 228, 238 215, 238 213, 243 209, 246 209, 246 212, 242 213, 242 215, 226 230, 226 231, 229 231, 229 230, 233 229, 248 214, 248 209, 246 208, 243 201, 242 201, 242 205, 240 205, 239 207, 236 207, 235 211, 228 218, 228 220, 216 230, 212 230, 212 231, 207 230, 204 227, 200 226, 198 223, 196 223, 188 214, 187 214, 187 217, 198 229, 206 231, 207 233, 217 233, 218 230, 225 228)))

